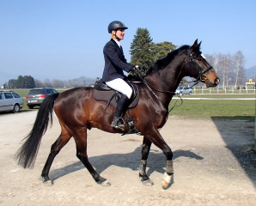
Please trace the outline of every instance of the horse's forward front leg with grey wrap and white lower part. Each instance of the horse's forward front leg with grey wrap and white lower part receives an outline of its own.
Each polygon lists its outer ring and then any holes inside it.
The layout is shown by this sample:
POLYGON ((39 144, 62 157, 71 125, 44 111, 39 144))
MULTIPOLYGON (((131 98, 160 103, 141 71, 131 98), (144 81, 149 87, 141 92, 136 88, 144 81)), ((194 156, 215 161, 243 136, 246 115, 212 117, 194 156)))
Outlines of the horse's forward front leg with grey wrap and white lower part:
POLYGON ((166 172, 163 176, 162 181, 162 188, 168 189, 168 187, 172 183, 173 174, 174 174, 174 167, 173 167, 173 152, 172 149, 169 148, 168 144, 164 141, 161 134, 158 130, 150 130, 150 135, 146 135, 145 137, 149 139, 150 142, 153 142, 156 147, 161 148, 163 154, 165 154, 167 159, 167 166, 166 166, 166 172))

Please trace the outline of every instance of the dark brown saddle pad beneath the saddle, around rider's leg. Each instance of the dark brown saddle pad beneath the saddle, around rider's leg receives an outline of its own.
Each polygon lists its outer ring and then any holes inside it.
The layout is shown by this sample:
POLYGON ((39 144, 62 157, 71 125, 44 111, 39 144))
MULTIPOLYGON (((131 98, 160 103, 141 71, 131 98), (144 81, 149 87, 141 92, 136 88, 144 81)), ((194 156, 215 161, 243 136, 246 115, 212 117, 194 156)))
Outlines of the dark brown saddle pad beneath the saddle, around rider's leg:
MULTIPOLYGON (((138 100, 139 100, 139 93, 138 93, 138 88, 137 85, 134 86, 135 88, 135 98, 131 97, 132 101, 130 106, 128 107, 128 109, 133 109, 134 107, 137 106, 138 100)), ((118 92, 116 92, 115 90, 111 89, 111 90, 97 90, 94 88, 94 100, 99 100, 99 101, 106 101, 106 105, 108 104, 108 101, 111 99, 110 101, 110 105, 113 106, 114 108, 117 107, 117 100, 115 95, 117 95, 118 92)))

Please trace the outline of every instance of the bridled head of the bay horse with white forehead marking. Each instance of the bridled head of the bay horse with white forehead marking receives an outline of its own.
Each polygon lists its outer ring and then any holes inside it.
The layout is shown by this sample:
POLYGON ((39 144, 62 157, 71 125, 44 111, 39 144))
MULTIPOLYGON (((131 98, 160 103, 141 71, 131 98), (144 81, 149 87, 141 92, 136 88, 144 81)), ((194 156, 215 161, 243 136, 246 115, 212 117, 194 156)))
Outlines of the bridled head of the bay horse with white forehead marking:
POLYGON ((201 42, 198 44, 198 39, 196 39, 187 50, 188 64, 186 69, 189 70, 188 73, 191 77, 196 78, 198 82, 204 82, 207 88, 216 87, 220 79, 200 51, 200 45, 201 42))

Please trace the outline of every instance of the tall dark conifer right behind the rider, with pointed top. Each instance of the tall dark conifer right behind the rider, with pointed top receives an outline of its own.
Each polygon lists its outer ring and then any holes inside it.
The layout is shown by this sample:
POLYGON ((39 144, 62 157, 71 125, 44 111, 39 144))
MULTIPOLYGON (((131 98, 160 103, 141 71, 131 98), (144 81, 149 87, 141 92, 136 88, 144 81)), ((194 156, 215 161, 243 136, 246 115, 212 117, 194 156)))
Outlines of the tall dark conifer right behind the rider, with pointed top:
POLYGON ((130 47, 131 64, 144 65, 149 68, 154 63, 154 56, 151 50, 152 40, 147 28, 137 28, 130 47))

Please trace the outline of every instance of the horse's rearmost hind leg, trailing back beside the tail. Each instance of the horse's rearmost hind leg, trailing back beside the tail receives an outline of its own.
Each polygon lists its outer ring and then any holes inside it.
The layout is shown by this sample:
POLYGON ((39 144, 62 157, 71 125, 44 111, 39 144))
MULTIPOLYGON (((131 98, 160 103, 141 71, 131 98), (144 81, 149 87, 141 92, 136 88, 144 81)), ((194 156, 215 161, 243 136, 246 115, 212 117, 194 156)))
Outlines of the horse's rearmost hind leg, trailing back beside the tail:
POLYGON ((50 154, 48 155, 48 159, 46 161, 46 164, 45 164, 45 167, 43 168, 43 171, 42 171, 42 178, 43 178, 43 181, 44 183, 50 183, 52 184, 52 181, 50 180, 49 178, 49 171, 50 171, 50 168, 52 166, 52 162, 55 158, 55 156, 59 153, 59 151, 61 150, 61 148, 64 147, 64 145, 69 142, 70 140, 70 135, 64 130, 64 128, 62 129, 62 132, 60 134, 60 136, 58 136, 58 139, 56 140, 56 142, 54 142, 52 144, 52 147, 51 147, 51 152, 50 154))

